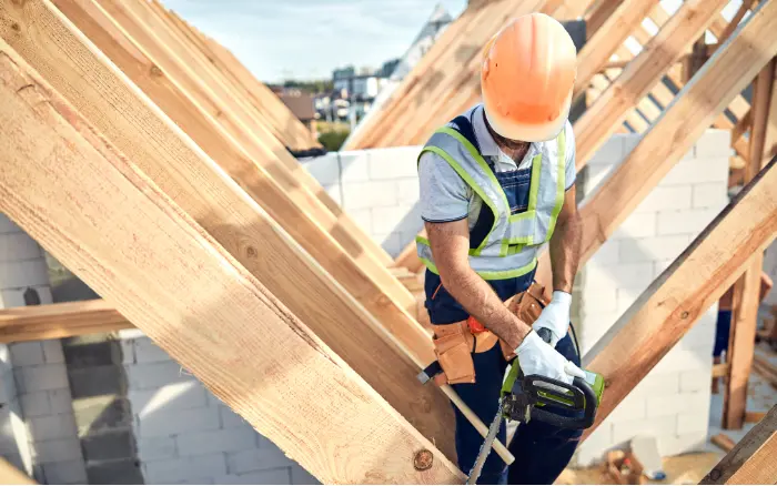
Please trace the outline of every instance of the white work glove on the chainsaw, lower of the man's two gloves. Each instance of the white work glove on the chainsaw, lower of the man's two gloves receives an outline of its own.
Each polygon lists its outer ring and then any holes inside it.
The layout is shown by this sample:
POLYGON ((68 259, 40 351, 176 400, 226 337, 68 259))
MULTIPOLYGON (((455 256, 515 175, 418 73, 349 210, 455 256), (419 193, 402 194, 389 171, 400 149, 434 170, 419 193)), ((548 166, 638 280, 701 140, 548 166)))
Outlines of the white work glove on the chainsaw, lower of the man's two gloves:
POLYGON ((551 347, 535 331, 526 334, 515 354, 524 375, 547 376, 567 385, 572 385, 575 376, 585 378, 581 368, 551 347))

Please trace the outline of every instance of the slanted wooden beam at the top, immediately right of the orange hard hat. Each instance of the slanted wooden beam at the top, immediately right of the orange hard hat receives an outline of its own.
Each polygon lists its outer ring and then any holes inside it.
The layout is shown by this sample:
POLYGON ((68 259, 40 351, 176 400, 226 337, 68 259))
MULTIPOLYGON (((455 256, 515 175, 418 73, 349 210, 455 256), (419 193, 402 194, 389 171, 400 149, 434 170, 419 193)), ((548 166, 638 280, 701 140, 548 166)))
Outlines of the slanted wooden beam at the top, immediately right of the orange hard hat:
MULTIPOLYGON (((591 83, 591 79, 602 70, 617 48, 639 26, 647 12, 658 0, 605 0, 593 16, 604 11, 602 29, 586 42, 577 54, 577 78, 575 79, 575 99, 579 98, 591 83), (618 7, 619 3, 619 7, 618 7), (613 9, 613 7, 617 7, 613 9), (613 9, 612 11, 609 9, 613 9), (612 16, 609 14, 612 13, 612 16)), ((597 18, 598 20, 598 18, 597 18)))

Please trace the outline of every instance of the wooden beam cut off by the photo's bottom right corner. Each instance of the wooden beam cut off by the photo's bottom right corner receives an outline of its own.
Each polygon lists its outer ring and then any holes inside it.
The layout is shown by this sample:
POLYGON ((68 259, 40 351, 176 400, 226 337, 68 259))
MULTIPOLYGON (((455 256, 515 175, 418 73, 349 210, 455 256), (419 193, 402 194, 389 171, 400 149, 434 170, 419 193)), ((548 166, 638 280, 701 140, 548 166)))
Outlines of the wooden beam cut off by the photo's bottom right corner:
POLYGON ((777 405, 699 483, 777 484, 777 405))

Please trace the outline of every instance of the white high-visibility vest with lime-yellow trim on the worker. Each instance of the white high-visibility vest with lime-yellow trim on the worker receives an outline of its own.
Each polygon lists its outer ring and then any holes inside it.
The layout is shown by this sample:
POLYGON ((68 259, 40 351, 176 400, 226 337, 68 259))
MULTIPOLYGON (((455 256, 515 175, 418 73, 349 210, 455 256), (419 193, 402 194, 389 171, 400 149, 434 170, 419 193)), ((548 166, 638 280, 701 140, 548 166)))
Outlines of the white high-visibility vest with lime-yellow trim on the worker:
MULTIPOLYGON (((458 130, 446 125, 434 132, 421 150, 443 158, 491 209, 494 223, 483 242, 470 250, 470 265, 484 280, 525 275, 537 264, 539 246, 549 241, 564 204, 566 138, 535 143, 528 206, 511 214, 509 204, 488 163, 458 130)), ((421 160, 418 155, 418 161, 421 160)), ((418 257, 438 274, 428 240, 416 237, 418 257)))

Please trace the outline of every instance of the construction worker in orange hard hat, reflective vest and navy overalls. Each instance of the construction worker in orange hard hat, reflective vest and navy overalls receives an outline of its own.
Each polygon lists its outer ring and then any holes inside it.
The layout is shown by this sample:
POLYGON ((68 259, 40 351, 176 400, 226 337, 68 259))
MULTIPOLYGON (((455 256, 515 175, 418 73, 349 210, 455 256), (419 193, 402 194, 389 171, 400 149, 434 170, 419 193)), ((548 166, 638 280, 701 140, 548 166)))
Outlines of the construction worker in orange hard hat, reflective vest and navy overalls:
MULTIPOLYGON (((496 414, 514 356, 525 374, 565 383, 583 376, 567 333, 582 227, 567 120, 575 65, 575 45, 561 23, 541 13, 514 19, 485 47, 483 102, 437 130, 418 158, 428 236, 418 237, 417 250, 443 372, 435 381, 450 383, 485 424, 496 414), (533 282, 544 243, 553 297, 543 303, 533 282), (537 334, 541 327, 551 331, 549 344, 537 334)), ((458 465, 467 473, 483 437, 455 413, 458 465)), ((503 443, 505 435, 503 424, 503 443)), ((509 446, 516 457, 509 470, 490 454, 480 483, 552 484, 579 436, 536 421, 522 424, 509 446)))

